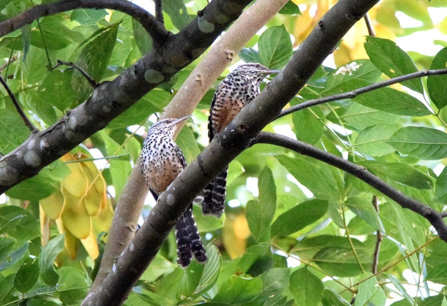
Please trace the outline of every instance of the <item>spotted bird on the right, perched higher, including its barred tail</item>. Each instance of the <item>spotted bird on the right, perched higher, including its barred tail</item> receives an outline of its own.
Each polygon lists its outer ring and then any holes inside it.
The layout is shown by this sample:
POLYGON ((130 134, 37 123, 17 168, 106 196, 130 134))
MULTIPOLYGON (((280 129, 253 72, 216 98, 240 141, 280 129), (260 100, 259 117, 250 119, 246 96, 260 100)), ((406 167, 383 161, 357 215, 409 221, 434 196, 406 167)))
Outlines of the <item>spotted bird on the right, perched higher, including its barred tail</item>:
MULTIPOLYGON (((208 117, 208 138, 213 140, 241 109, 261 92, 263 78, 280 70, 272 70, 260 63, 241 64, 217 86, 208 117)), ((202 212, 220 217, 224 211, 228 166, 203 191, 202 212)))

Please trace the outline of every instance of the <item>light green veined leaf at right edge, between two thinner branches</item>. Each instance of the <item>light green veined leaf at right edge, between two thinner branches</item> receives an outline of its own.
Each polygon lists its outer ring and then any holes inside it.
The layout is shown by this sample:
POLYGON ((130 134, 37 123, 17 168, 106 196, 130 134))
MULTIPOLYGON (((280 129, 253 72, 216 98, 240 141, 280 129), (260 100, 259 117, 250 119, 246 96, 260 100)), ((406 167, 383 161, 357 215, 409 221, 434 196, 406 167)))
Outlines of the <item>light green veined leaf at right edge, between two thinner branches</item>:
POLYGON ((435 160, 447 156, 447 135, 438 129, 406 126, 397 130, 387 143, 410 156, 435 160))

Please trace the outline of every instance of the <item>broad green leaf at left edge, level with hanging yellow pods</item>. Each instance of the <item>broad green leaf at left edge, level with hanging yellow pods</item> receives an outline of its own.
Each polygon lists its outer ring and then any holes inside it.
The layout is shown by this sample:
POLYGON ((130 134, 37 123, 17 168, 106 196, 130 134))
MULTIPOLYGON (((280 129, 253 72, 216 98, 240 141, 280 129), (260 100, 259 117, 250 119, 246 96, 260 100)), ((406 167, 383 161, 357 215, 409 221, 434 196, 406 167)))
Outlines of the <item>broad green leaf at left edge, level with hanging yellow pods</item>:
POLYGON ((18 206, 0 207, 0 226, 2 232, 20 240, 32 240, 40 236, 39 221, 33 213, 18 206), (18 221, 11 222, 18 216, 18 221))

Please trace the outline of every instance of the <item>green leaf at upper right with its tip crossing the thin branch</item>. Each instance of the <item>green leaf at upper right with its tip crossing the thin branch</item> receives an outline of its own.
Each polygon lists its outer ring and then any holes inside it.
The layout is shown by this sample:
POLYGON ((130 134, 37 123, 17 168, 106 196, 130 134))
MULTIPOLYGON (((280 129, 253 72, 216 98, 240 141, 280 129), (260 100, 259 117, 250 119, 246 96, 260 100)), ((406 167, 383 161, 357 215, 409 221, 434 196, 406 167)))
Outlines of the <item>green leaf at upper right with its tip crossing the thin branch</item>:
MULTIPOLYGON (((417 72, 411 57, 392 40, 366 36, 365 50, 372 63, 389 77, 417 72)), ((420 78, 403 81, 402 85, 423 93, 420 78)))

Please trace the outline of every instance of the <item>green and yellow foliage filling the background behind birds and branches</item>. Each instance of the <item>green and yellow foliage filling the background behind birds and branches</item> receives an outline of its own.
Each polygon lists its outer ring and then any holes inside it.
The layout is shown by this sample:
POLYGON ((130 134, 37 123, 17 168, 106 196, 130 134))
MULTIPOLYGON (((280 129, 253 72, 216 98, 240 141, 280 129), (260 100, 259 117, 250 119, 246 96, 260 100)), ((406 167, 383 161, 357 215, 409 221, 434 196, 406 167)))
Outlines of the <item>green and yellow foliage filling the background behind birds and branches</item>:
MULTIPOLYGON (((173 32, 207 3, 165 2, 165 26, 173 32)), ((243 59, 282 68, 293 47, 333 2, 290 1, 233 63, 243 59)), ((0 1, 0 18, 38 3, 0 1)), ((441 48, 445 41, 438 37, 433 37, 439 46, 436 56, 405 52, 392 42, 433 28, 447 34, 447 18, 433 23, 429 14, 442 6, 440 0, 380 2, 370 11, 376 37, 364 37, 367 29, 360 20, 334 51, 339 68, 319 68, 290 105, 416 70, 444 68, 447 49, 441 48), (401 27, 396 11, 414 18, 418 25, 401 27)), ((2 37, 0 56, 10 62, 2 74, 29 117, 44 129, 92 91, 76 70, 61 66, 50 71, 48 67, 57 59, 74 61, 96 81, 106 81, 150 48, 144 29, 124 13, 77 9, 44 17, 2 37)), ((139 155, 145 121, 163 111, 199 60, 73 150, 79 162, 57 161, 6 193, 0 206, 3 304, 76 304, 85 297, 98 263, 89 254, 101 252, 103 242, 97 246, 96 237, 110 224, 112 207, 139 155), (143 128, 137 130, 140 125, 143 128), (108 160, 101 164, 100 174, 93 168, 85 170, 91 167, 92 154, 108 160), (104 181, 107 187, 101 188, 96 181, 104 181), (92 193, 94 185, 97 193, 92 193), (62 196, 55 195, 58 192, 62 196), (45 205, 49 196, 56 197, 51 203, 59 203, 56 211, 45 205), (92 221, 98 216, 99 220, 92 221)), ((188 162, 207 145, 208 109, 219 81, 177 138, 188 162)), ((447 171, 441 171, 447 151, 443 132, 446 84, 444 76, 413 79, 354 99, 306 108, 272 122, 265 130, 286 133, 363 165, 403 193, 441 211, 447 193, 447 171)), ((1 90, 0 151, 6 154, 30 132, 1 90)), ((227 199, 226 215, 220 219, 204 217, 200 207, 194 207, 208 244, 208 263, 178 267, 171 234, 126 304, 343 305, 354 297, 359 305, 391 303, 391 298, 400 299, 395 305, 447 303, 443 295, 445 243, 424 218, 350 174, 281 147, 256 144, 230 164, 227 199), (379 212, 371 204, 373 195, 379 212), (377 231, 383 240, 379 272, 372 276, 377 231)), ((153 204, 148 202, 145 214, 153 204)))

